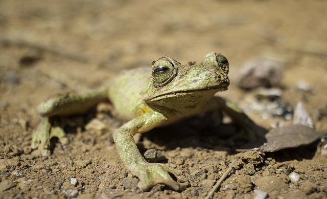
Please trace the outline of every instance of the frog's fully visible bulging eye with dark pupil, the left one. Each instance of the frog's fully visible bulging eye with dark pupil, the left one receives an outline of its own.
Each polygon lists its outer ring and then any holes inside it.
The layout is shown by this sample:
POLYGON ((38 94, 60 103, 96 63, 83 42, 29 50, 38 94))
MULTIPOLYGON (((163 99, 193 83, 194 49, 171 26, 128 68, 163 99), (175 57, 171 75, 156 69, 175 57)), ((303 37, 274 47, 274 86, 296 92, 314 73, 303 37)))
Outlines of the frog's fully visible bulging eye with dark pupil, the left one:
POLYGON ((175 65, 167 58, 161 58, 152 65, 152 80, 155 86, 164 86, 176 76, 175 65))

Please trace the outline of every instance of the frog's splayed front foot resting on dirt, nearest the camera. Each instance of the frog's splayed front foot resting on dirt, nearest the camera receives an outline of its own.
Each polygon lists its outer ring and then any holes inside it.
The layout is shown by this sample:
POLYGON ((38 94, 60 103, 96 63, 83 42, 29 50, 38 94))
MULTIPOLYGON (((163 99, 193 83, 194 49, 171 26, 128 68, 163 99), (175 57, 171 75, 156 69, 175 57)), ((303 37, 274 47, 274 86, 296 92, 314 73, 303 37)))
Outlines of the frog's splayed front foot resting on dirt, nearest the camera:
POLYGON ((142 191, 146 191, 156 184, 165 184, 174 190, 183 190, 188 185, 188 183, 180 184, 174 181, 169 173, 174 174, 177 178, 182 173, 178 169, 174 169, 166 164, 141 164, 134 167, 132 173, 138 177, 138 187, 142 191))

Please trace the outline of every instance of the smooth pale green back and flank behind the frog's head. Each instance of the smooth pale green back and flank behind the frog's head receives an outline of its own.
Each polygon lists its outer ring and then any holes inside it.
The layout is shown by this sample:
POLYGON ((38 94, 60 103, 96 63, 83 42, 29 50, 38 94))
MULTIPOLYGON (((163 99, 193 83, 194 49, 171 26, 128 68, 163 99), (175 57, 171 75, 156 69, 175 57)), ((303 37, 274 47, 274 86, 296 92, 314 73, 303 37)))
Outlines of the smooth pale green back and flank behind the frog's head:
POLYGON ((138 107, 144 104, 143 94, 151 80, 151 68, 137 68, 118 75, 109 85, 108 98, 121 119, 136 117, 138 107))

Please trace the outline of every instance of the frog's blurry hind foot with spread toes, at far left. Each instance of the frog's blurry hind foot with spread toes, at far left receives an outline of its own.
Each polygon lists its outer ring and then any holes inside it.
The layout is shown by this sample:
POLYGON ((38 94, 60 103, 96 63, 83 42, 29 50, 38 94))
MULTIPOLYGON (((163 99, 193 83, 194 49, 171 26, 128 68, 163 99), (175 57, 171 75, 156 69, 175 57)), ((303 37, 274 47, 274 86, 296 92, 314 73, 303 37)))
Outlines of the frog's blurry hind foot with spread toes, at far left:
POLYGON ((50 156, 50 140, 58 138, 62 144, 68 144, 69 140, 61 127, 50 118, 43 118, 36 130, 31 144, 32 149, 40 148, 42 156, 50 156))

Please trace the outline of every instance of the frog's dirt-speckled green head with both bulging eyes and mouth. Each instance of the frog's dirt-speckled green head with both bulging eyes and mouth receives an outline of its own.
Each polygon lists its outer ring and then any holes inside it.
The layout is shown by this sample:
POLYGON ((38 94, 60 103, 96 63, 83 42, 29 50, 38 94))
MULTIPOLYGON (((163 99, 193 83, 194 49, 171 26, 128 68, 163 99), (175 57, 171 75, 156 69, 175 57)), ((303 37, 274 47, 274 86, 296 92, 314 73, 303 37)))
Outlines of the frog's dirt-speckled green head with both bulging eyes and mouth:
POLYGON ((182 65, 164 56, 152 62, 152 81, 144 100, 165 107, 204 104, 216 92, 227 90, 227 74, 227 59, 215 52, 207 54, 199 65, 182 65))

